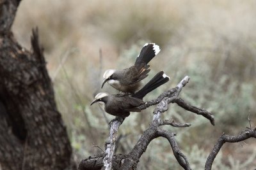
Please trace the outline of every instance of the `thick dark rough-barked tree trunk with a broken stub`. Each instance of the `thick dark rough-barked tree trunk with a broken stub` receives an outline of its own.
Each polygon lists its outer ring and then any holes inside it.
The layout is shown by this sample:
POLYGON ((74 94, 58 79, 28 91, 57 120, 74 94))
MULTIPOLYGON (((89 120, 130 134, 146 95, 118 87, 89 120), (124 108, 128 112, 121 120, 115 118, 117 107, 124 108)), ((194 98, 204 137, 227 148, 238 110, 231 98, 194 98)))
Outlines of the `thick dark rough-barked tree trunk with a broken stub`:
POLYGON ((19 1, 0 0, 0 164, 3 169, 75 169, 56 108, 38 31, 32 52, 10 27, 19 1))

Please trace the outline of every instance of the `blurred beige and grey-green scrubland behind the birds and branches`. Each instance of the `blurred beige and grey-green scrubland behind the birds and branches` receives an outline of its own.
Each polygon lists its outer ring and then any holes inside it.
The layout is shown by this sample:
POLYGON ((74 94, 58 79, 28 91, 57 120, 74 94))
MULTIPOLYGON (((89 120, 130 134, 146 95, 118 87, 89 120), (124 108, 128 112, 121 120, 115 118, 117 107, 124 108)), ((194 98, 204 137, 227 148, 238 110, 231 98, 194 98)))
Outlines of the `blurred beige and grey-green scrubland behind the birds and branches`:
MULTIPOLYGON (((100 89, 104 71, 131 66, 144 43, 160 45, 161 52, 150 62, 149 78, 163 69, 171 80, 145 101, 190 76, 180 96, 211 111, 216 125, 173 104, 163 117, 192 126, 164 128, 177 133, 191 167, 201 169, 223 132, 239 134, 250 126, 248 115, 256 125, 255 9, 254 0, 23 0, 13 32, 22 46, 30 48, 31 29, 39 28, 58 109, 77 163, 101 152, 93 145, 104 148, 108 138, 108 122, 113 117, 100 106, 90 107, 97 92, 116 93, 108 85, 100 89)), ((152 120, 152 110, 132 113, 125 120, 118 132, 117 153, 131 150, 152 120)), ((245 142, 226 144, 213 169, 255 168, 255 140, 245 142)), ((138 169, 180 166, 168 141, 159 138, 150 143, 138 169)))

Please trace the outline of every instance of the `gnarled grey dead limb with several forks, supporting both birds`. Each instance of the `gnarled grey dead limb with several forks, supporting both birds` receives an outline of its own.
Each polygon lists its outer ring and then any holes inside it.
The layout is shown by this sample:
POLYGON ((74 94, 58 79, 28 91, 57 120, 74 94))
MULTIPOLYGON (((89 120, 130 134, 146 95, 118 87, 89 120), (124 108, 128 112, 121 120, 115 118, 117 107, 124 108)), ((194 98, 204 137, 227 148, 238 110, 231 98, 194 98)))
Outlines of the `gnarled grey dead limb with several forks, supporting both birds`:
MULTIPOLYGON (((138 162, 140 160, 140 157, 147 150, 147 146, 149 145, 149 143, 153 139, 158 137, 166 138, 169 141, 171 148, 173 150, 173 154, 175 155, 175 158, 179 162, 180 166, 182 166, 184 169, 191 169, 189 167, 188 158, 186 157, 186 155, 184 155, 184 153, 181 152, 174 138, 175 134, 173 132, 167 132, 160 129, 160 126, 162 125, 172 125, 173 127, 189 127, 190 126, 190 124, 187 124, 187 123, 180 124, 180 123, 175 123, 173 120, 161 120, 160 118, 161 114, 168 110, 168 107, 169 107, 168 104, 176 103, 176 101, 179 102, 179 98, 178 98, 179 93, 182 90, 182 87, 184 87, 188 83, 188 81, 189 81, 189 77, 188 76, 184 77, 184 79, 180 81, 177 87, 170 89, 167 92, 164 92, 159 97, 157 97, 157 99, 148 101, 140 106, 140 109, 144 110, 149 106, 158 104, 156 109, 154 110, 154 117, 152 120, 152 124, 150 124, 148 129, 143 132, 143 134, 141 135, 141 138, 138 140, 138 142, 136 143, 136 145, 134 146, 134 148, 130 153, 128 153, 127 155, 113 155, 112 158, 109 157, 109 155, 114 153, 113 148, 115 148, 115 142, 116 142, 116 136, 114 136, 114 138, 111 138, 111 139, 109 138, 111 145, 109 143, 109 139, 106 143, 106 146, 107 146, 106 150, 108 150, 108 152, 110 151, 111 154, 106 152, 106 154, 101 154, 99 157, 89 157, 87 159, 83 159, 79 164, 79 169, 84 170, 84 169, 88 169, 88 167, 91 167, 91 169, 98 169, 98 168, 106 169, 106 165, 108 165, 107 167, 108 169, 111 169, 111 168, 112 169, 136 169, 138 162), (106 164, 105 162, 104 163, 102 162, 102 164, 92 164, 92 159, 94 160, 94 162, 98 163, 99 159, 102 160, 102 158, 104 158, 105 160, 108 160, 107 162, 108 164, 106 164), (111 160, 112 162, 111 165, 109 165, 109 162, 110 162, 109 160, 111 160)), ((191 106, 191 105, 186 103, 185 106, 191 106)), ((202 111, 202 109, 198 108, 198 110, 193 110, 193 111, 199 114, 200 111, 202 111)), ((206 118, 208 118, 211 122, 214 122, 214 117, 211 115, 211 113, 206 112, 205 114, 209 115, 206 118)), ((115 132, 115 135, 117 135, 118 128, 123 121, 124 119, 120 119, 118 117, 115 118, 115 120, 113 120, 111 124, 109 137, 111 137, 113 132, 115 132)))

